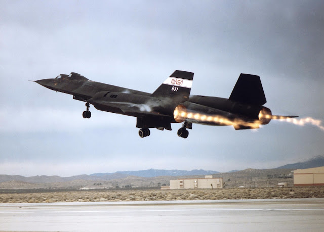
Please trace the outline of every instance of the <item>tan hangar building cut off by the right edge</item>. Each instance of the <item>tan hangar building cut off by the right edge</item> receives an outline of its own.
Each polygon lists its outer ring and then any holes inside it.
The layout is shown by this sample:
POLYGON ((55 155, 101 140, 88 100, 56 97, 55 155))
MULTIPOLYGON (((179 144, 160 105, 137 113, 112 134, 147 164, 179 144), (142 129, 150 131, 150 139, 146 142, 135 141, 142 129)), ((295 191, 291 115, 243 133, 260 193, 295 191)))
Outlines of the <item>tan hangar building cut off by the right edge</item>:
POLYGON ((294 171, 295 186, 324 185, 324 166, 294 171))

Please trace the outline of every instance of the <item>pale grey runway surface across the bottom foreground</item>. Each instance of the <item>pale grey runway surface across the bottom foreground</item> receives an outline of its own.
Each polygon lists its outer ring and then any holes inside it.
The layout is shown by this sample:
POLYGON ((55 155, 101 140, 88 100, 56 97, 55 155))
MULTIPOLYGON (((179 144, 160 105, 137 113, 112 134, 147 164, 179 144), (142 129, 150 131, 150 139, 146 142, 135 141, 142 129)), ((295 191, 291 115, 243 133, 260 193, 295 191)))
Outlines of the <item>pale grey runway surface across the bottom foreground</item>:
POLYGON ((0 204, 0 230, 322 231, 324 199, 0 204))

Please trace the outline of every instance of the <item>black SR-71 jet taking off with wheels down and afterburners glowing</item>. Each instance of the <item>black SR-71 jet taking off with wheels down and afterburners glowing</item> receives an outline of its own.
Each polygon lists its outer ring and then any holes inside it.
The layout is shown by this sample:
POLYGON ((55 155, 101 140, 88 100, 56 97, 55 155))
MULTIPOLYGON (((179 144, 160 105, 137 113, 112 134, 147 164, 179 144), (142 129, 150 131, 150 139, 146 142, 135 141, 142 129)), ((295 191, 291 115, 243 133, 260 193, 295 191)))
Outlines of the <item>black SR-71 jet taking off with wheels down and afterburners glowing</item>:
POLYGON ((263 106, 266 98, 259 76, 240 74, 229 99, 190 95, 192 80, 192 72, 176 70, 153 94, 92 81, 74 72, 35 82, 86 102, 84 118, 91 117, 90 104, 98 110, 136 117, 142 138, 150 135, 149 128, 172 130, 171 123, 183 123, 177 134, 187 138, 192 123, 232 125, 240 130, 259 128, 271 119, 297 117, 272 115, 263 106))

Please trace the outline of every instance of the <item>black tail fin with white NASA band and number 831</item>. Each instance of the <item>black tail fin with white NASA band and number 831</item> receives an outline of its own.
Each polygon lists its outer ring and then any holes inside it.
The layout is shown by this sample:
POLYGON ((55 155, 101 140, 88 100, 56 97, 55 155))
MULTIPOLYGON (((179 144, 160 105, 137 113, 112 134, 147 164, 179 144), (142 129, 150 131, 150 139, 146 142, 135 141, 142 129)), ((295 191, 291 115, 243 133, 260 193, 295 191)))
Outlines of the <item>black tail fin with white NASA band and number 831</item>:
POLYGON ((175 102, 185 102, 189 99, 193 72, 176 70, 151 95, 155 98, 171 98, 175 102))

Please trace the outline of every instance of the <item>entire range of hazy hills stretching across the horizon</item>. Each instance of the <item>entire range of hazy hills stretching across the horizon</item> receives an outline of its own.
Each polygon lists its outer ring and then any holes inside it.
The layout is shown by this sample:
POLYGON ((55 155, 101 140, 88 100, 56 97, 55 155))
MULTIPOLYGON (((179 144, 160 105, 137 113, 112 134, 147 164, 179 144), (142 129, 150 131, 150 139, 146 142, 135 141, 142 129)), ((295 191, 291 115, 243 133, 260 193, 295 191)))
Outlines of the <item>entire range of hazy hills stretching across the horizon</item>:
MULTIPOLYGON (((30 176, 21 175, 1 175, 0 189, 25 189, 25 188, 111 188, 119 185, 132 187, 152 187, 158 184, 169 184, 170 179, 185 178, 203 178, 204 175, 217 174, 227 181, 227 186, 241 185, 243 182, 248 183, 252 178, 267 179, 280 175, 289 175, 291 170, 304 169, 324 166, 324 155, 317 156, 304 162, 287 164, 274 169, 246 169, 232 170, 225 173, 210 170, 164 170, 164 169, 148 169, 140 171, 117 171, 113 173, 94 173, 91 175, 75 175, 70 177, 60 176, 30 176), (240 182, 237 182, 240 181, 240 182), (99 184, 99 185, 98 185, 99 184), (236 184, 236 185, 235 185, 236 184)), ((251 180, 252 181, 252 180, 251 180)), ((255 180, 253 180, 255 181, 255 180)), ((253 185, 254 186, 254 185, 253 185)), ((260 183, 258 186, 261 186, 260 183)))

